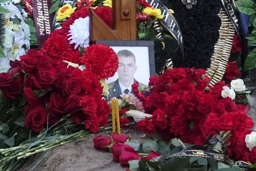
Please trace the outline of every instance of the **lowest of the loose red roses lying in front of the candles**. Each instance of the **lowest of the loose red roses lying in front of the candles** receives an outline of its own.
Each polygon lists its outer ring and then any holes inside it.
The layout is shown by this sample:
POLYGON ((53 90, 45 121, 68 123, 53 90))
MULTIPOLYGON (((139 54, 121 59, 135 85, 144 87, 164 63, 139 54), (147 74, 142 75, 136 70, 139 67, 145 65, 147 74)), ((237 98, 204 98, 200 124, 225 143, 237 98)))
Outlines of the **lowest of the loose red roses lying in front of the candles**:
POLYGON ((141 159, 141 157, 139 156, 139 153, 137 153, 134 149, 127 149, 125 151, 122 151, 119 156, 119 162, 121 163, 121 166, 129 166, 128 161, 139 159, 141 159))

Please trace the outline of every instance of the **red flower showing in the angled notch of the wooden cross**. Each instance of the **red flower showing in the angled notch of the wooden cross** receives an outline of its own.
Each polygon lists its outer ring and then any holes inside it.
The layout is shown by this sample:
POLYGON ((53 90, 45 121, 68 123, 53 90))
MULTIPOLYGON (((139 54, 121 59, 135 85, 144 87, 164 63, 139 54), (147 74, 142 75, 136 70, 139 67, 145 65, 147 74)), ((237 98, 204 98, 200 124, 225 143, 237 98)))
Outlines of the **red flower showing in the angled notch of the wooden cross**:
POLYGON ((101 18, 102 20, 104 20, 104 22, 105 22, 106 24, 108 24, 110 28, 114 28, 114 27, 113 27, 112 8, 100 6, 100 7, 97 7, 96 9, 93 9, 93 11, 94 11, 98 16, 100 16, 100 18, 101 18))

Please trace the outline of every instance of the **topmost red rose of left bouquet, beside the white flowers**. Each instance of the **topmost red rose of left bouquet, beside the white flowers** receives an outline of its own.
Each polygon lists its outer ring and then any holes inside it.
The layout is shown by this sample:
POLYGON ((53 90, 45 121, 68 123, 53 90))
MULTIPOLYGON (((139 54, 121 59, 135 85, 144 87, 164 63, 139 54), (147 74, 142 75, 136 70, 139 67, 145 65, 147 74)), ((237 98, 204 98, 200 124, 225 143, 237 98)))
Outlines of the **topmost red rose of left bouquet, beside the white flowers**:
POLYGON ((22 70, 27 73, 32 73, 35 71, 38 59, 34 55, 25 54, 22 55, 20 59, 20 63, 22 64, 22 70))

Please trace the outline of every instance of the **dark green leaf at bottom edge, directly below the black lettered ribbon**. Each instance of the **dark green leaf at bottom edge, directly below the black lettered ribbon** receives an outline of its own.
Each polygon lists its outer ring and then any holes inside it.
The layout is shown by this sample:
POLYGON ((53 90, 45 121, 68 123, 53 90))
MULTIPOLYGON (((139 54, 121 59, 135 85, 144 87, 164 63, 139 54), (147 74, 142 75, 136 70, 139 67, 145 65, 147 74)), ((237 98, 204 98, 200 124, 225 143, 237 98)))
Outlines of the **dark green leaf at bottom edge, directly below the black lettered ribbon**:
POLYGON ((189 165, 188 157, 173 157, 163 164, 163 171, 185 171, 188 170, 189 165))

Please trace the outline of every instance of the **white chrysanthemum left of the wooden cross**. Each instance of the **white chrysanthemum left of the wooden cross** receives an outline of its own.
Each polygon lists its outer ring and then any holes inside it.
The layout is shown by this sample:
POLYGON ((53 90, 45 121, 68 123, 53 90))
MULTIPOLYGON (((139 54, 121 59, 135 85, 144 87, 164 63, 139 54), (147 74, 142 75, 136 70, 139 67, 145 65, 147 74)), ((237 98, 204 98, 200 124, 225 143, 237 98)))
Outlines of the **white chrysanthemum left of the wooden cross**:
POLYGON ((71 40, 69 44, 76 44, 75 49, 78 46, 85 48, 89 46, 90 26, 89 17, 76 19, 75 22, 70 25, 68 40, 71 40))

